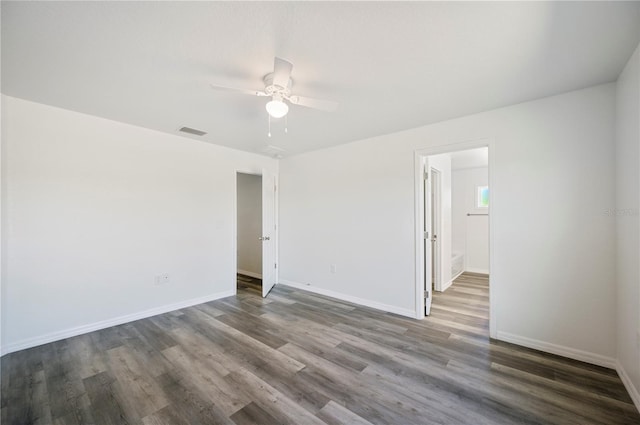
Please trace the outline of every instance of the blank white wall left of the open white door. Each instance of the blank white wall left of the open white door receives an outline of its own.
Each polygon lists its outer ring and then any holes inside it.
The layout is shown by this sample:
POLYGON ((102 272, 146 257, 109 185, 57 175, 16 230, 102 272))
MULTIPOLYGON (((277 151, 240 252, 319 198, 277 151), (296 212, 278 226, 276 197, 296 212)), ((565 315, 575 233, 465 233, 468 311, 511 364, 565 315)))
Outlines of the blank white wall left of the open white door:
POLYGON ((2 101, 4 351, 234 293, 236 169, 276 161, 2 101))

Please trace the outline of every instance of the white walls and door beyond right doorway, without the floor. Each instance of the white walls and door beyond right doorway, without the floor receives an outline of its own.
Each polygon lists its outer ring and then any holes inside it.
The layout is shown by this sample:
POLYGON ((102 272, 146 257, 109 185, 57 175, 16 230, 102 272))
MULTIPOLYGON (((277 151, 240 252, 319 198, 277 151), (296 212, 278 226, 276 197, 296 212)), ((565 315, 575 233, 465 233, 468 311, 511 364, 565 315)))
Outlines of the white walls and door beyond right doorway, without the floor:
POLYGON ((488 147, 424 157, 424 307, 463 273, 489 277, 488 147))

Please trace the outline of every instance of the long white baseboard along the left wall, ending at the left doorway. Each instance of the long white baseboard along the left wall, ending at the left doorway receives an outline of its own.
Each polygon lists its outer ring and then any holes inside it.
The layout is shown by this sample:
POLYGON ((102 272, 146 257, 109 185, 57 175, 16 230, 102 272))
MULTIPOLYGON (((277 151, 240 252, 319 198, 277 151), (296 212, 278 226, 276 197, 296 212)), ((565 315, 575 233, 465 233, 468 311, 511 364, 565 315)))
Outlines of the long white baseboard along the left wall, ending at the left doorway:
POLYGON ((114 317, 112 319, 102 320, 100 322, 89 323, 87 325, 82 325, 74 328, 64 329, 57 332, 52 332, 46 335, 40 335, 33 338, 23 339, 21 341, 5 344, 2 347, 2 351, 0 353, 1 355, 13 353, 15 351, 36 347, 42 344, 48 344, 50 342, 59 341, 61 339, 71 338, 74 336, 86 334, 86 333, 97 331, 100 329, 109 328, 111 326, 122 325, 123 323, 133 322, 135 320, 140 320, 140 319, 146 319, 147 317, 168 313, 174 310, 180 310, 181 308, 191 307, 192 305, 202 304, 209 301, 218 300, 220 298, 230 297, 232 295, 235 295, 235 293, 236 293, 235 289, 231 289, 229 291, 216 292, 215 294, 205 295, 204 297, 191 298, 189 300, 180 301, 173 304, 167 304, 167 305, 151 308, 149 310, 140 311, 133 314, 127 314, 124 316, 114 317))

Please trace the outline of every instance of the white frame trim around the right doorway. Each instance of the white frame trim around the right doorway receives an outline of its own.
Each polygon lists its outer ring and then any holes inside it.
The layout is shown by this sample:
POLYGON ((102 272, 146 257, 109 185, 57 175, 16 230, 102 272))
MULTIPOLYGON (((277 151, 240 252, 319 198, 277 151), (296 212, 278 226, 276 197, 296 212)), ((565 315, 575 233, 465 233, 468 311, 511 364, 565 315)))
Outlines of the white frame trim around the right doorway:
MULTIPOLYGON (((428 148, 416 149, 414 151, 414 206, 415 206, 415 313, 416 319, 422 320, 425 318, 424 314, 424 277, 425 277, 425 261, 424 261, 424 217, 425 217, 425 203, 424 203, 424 164, 428 156, 439 155, 443 153, 450 153, 456 151, 463 151, 475 148, 489 148, 489 205, 491 205, 492 214, 489 215, 489 270, 495 270, 494 263, 496 258, 494 255, 495 248, 495 226, 492 225, 493 212, 495 209, 496 191, 494 182, 494 169, 495 169, 495 143, 491 137, 479 138, 459 143, 451 143, 445 145, 435 145, 428 148)), ((496 292, 500 282, 492 277, 490 279, 489 286, 489 336, 496 338, 497 336, 497 321, 496 321, 496 292)))

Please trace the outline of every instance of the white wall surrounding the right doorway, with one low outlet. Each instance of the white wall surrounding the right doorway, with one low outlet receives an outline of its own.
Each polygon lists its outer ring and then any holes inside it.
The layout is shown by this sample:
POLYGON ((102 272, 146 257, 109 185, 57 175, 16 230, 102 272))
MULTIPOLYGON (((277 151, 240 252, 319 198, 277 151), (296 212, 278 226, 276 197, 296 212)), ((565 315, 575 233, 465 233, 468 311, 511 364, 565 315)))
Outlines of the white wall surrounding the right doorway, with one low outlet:
POLYGON ((607 84, 284 159, 281 281, 415 315, 414 151, 490 138, 498 338, 612 365, 615 228, 593 194, 613 204, 614 104, 607 84))

